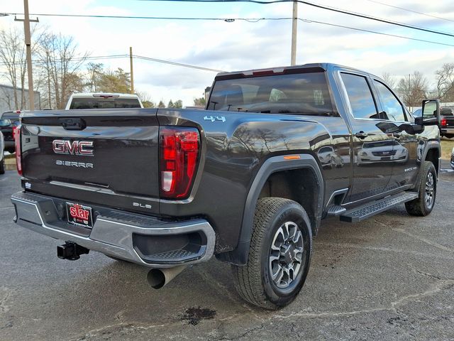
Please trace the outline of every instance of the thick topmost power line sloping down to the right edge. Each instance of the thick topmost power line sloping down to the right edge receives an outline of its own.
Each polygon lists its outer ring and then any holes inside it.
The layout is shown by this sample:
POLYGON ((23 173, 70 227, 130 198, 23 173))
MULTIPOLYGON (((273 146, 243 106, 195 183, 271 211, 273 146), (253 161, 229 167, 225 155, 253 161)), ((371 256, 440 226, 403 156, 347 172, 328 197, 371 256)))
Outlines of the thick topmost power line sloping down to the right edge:
POLYGON ((338 9, 338 8, 335 8, 335 7, 324 6, 324 5, 321 5, 321 4, 314 4, 314 3, 311 3, 311 2, 308 2, 308 1, 303 1, 303 0, 272 0, 272 1, 258 1, 258 0, 140 0, 140 1, 179 1, 179 2, 211 2, 211 3, 214 3, 214 2, 218 2, 218 3, 222 3, 222 2, 250 2, 250 3, 253 3, 253 4, 262 4, 262 5, 269 5, 269 4, 277 4, 277 3, 297 1, 300 4, 313 6, 313 7, 316 7, 318 9, 326 9, 327 11, 334 11, 334 12, 337 12, 337 13, 343 13, 343 14, 347 14, 349 16, 356 16, 358 18, 365 18, 365 19, 369 19, 369 20, 373 20, 373 21, 379 21, 381 23, 389 23, 390 25, 394 25, 394 26, 401 26, 401 27, 405 27, 405 28, 411 28, 411 29, 414 29, 414 30, 428 32, 428 33, 441 34, 443 36, 454 37, 454 34, 448 33, 448 32, 434 31, 434 30, 431 30, 430 28, 423 28, 423 27, 419 27, 419 26, 413 26, 413 25, 409 25, 407 23, 399 23, 397 21, 390 21, 390 20, 387 20, 387 19, 384 19, 384 18, 378 18, 378 17, 375 17, 375 16, 368 16, 367 14, 347 11, 345 9, 338 9))

